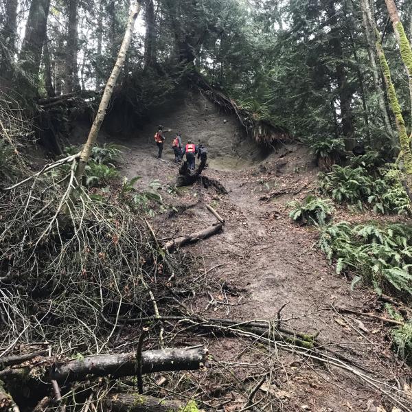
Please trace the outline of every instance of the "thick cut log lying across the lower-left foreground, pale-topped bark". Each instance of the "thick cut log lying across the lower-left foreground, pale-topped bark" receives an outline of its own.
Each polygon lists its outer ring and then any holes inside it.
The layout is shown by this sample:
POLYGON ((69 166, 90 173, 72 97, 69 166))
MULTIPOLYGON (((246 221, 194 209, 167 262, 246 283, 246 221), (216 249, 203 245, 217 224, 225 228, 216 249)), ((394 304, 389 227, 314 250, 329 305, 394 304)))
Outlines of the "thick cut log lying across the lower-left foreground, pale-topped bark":
MULTIPOLYGON (((141 373, 201 369, 206 361, 207 353, 205 347, 148 350, 141 353, 141 373)), ((41 368, 37 371, 40 374, 38 378, 49 382, 56 380, 63 384, 84 380, 88 375, 111 375, 113 378, 122 378, 136 374, 135 352, 86 356, 69 362, 53 362, 53 358, 41 358, 39 363, 41 363, 41 368), (47 363, 48 368, 45 367, 47 363)), ((36 368, 36 365, 3 369, 0 371, 0 377, 3 380, 32 380, 30 371, 33 368, 36 368)))

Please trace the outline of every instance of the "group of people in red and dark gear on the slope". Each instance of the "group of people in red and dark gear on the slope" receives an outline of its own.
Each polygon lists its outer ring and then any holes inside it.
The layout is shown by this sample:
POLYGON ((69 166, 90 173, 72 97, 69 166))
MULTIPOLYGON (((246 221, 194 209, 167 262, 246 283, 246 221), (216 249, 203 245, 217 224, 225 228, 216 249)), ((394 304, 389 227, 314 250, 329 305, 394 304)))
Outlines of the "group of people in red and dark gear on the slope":
MULTIPOLYGON (((159 153, 157 157, 161 159, 161 154, 163 152, 163 144, 165 142, 165 133, 171 132, 171 129, 163 130, 163 126, 158 127, 157 133, 155 134, 155 142, 159 148, 159 153)), ((194 170, 196 163, 196 155, 198 159, 206 163, 207 160, 207 149, 203 144, 194 144, 192 140, 187 140, 187 144, 183 146, 181 133, 176 133, 172 141, 172 149, 174 151, 174 163, 180 163, 183 156, 186 155, 187 168, 194 170)))

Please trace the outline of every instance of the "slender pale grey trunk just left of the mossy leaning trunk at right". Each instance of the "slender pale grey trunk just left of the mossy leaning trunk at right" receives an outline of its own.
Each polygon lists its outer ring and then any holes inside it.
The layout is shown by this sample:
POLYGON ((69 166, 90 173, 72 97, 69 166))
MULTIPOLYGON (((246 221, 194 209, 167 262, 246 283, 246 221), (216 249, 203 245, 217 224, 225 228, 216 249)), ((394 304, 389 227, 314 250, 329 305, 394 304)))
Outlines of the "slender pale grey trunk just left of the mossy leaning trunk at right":
POLYGON ((376 95, 378 98, 378 105, 380 110, 380 116, 382 117, 383 126, 385 127, 385 132, 387 133, 389 139, 393 144, 398 143, 398 137, 393 132, 391 121, 389 119, 389 113, 387 111, 387 105, 385 104, 385 94, 382 88, 382 82, 380 80, 380 73, 378 70, 378 65, 376 64, 376 52, 374 45, 374 33, 375 33, 375 20, 372 17, 371 8, 369 5, 369 0, 361 0, 361 10, 363 18, 363 27, 365 29, 365 38, 367 43, 367 53, 369 56, 369 62, 371 65, 372 78, 374 80, 374 87, 376 90, 376 95))

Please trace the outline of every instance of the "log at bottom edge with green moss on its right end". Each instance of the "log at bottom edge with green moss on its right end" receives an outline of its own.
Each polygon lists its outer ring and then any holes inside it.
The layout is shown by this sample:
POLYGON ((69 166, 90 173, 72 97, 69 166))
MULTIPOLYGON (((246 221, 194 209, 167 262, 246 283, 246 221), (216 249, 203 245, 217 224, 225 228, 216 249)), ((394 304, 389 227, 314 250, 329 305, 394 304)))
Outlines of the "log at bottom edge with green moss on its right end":
POLYGON ((193 401, 162 400, 137 393, 113 393, 105 402, 108 412, 183 412, 198 411, 193 401), (192 407, 192 409, 190 409, 192 407), (186 408, 186 409, 185 409, 186 408))

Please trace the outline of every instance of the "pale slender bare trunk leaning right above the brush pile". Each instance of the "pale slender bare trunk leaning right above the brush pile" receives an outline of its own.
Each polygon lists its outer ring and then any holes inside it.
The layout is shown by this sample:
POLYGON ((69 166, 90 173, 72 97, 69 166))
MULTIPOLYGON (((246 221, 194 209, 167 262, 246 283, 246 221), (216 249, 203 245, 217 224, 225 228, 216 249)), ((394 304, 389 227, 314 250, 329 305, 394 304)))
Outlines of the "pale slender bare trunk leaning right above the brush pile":
POLYGON ((140 4, 136 1, 130 6, 130 12, 128 17, 128 23, 126 27, 126 32, 124 34, 122 46, 120 47, 119 54, 117 55, 117 60, 115 63, 115 67, 113 67, 113 71, 111 72, 110 77, 108 78, 106 87, 104 88, 104 93, 102 100, 100 101, 100 106, 98 109, 98 114, 96 115, 93 125, 91 126, 89 137, 87 137, 86 144, 82 150, 80 155, 80 160, 78 163, 78 167, 76 169, 76 181, 77 184, 80 184, 82 181, 82 176, 84 173, 84 168, 86 167, 87 161, 89 160, 91 149, 95 144, 96 139, 98 138, 98 133, 100 130, 100 126, 102 126, 102 122, 104 116, 106 115, 106 109, 108 103, 110 102, 111 95, 113 93, 113 88, 115 87, 117 78, 119 77, 120 71, 122 70, 122 66, 124 64, 124 60, 126 59, 126 52, 130 45, 130 41, 132 40, 133 36, 133 26, 135 25, 135 20, 137 18, 137 14, 139 14, 140 4))

